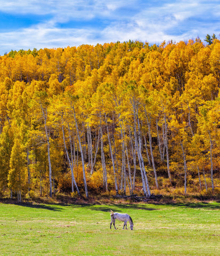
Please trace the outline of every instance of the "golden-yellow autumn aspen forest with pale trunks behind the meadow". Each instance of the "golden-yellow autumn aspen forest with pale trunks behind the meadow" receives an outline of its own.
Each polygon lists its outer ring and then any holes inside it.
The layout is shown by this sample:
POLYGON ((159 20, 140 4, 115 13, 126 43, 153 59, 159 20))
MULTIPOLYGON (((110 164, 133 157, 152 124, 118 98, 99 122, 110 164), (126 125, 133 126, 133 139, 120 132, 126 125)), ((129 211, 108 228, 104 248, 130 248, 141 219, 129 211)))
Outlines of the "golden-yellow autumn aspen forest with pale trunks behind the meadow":
POLYGON ((220 195, 220 41, 0 57, 0 197, 220 195))

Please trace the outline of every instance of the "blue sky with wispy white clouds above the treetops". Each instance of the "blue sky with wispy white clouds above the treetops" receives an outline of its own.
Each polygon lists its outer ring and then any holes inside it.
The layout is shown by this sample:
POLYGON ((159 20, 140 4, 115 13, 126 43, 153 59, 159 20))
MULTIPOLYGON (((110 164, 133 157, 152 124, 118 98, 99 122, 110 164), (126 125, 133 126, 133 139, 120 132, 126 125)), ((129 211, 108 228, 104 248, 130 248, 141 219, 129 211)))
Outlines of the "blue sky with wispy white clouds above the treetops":
POLYGON ((219 0, 0 0, 0 55, 138 40, 219 38, 219 0))

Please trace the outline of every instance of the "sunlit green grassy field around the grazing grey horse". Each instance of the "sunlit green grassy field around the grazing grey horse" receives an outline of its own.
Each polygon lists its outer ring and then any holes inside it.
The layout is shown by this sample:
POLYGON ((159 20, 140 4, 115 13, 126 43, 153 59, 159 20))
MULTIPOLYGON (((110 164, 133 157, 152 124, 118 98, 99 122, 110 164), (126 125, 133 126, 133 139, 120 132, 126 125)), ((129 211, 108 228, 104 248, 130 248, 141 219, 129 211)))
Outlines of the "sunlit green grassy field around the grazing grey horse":
POLYGON ((220 203, 0 203, 0 255, 216 256, 220 203), (134 230, 110 230, 110 209, 130 214, 134 230))

